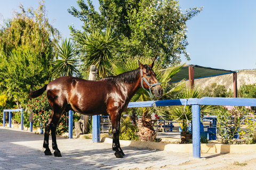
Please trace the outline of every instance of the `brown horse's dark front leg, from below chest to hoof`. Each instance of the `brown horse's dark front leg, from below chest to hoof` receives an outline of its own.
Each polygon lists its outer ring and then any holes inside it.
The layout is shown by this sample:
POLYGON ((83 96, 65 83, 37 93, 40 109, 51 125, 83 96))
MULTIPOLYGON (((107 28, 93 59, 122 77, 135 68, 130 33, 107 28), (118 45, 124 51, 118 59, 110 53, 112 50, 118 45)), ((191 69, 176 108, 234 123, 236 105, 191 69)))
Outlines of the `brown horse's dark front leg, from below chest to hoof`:
MULTIPOLYGON (((114 115, 114 114, 113 114, 114 115)), ((111 115, 111 121, 112 121, 112 133, 113 133, 113 144, 112 148, 115 151, 115 156, 117 158, 123 158, 124 152, 120 147, 119 143, 119 132, 120 132, 120 120, 121 120, 121 114, 115 114, 115 116, 111 115)))

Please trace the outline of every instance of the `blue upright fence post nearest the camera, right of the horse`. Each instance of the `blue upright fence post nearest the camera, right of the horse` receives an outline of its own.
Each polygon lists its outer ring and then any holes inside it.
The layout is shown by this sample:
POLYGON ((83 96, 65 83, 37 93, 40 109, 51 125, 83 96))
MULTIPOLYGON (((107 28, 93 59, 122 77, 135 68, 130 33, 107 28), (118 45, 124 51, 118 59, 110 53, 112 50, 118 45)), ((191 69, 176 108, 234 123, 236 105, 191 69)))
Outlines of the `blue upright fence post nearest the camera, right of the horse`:
POLYGON ((200 145, 200 106, 192 105, 193 157, 201 158, 200 145))

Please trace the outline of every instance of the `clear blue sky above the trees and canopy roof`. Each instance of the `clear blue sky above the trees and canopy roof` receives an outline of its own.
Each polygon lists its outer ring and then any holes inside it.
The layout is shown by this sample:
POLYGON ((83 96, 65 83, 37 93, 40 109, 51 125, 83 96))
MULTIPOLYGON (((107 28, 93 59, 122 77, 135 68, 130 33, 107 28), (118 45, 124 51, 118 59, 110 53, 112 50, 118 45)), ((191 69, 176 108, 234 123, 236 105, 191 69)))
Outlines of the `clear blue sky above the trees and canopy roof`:
MULTIPOLYGON (((86 1, 86 0, 85 0, 86 1)), ((25 9, 37 8, 37 0, 6 0, 0 2, 0 22, 11 18, 12 11, 22 3, 25 9)), ((98 10, 99 3, 93 0, 98 10)), ((256 69, 256 1, 181 0, 181 10, 204 6, 203 11, 187 22, 187 52, 191 60, 182 62, 226 70, 256 69)), ((63 38, 70 38, 69 25, 81 29, 83 24, 67 12, 77 7, 76 0, 45 0, 49 21, 63 38)))

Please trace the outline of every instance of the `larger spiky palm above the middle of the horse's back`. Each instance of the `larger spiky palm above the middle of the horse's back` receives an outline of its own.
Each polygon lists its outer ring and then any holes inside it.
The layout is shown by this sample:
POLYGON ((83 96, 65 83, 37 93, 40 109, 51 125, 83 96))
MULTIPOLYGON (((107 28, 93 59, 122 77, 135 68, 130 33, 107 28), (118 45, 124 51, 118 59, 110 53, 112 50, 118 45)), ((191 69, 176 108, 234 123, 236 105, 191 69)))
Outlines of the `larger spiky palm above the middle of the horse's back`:
POLYGON ((113 35, 114 30, 111 31, 111 28, 107 28, 105 32, 96 30, 83 37, 86 55, 82 61, 86 62, 87 70, 91 65, 97 66, 98 73, 102 78, 107 75, 106 67, 113 60, 113 48, 117 43, 117 37, 113 37, 113 35))

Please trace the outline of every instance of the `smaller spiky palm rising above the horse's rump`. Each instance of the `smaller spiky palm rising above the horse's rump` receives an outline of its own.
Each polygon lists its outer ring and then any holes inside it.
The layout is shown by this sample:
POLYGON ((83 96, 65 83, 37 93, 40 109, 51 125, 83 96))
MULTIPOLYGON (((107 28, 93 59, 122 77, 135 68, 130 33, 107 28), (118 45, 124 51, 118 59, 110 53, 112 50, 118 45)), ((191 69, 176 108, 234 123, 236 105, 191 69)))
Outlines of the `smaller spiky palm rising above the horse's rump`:
POLYGON ((58 44, 58 48, 56 50, 58 57, 61 59, 50 62, 50 64, 53 65, 51 74, 52 78, 56 79, 64 75, 73 75, 74 73, 77 73, 76 65, 78 61, 74 57, 76 52, 73 47, 73 43, 70 42, 70 39, 68 42, 67 38, 62 39, 61 45, 58 44))

